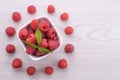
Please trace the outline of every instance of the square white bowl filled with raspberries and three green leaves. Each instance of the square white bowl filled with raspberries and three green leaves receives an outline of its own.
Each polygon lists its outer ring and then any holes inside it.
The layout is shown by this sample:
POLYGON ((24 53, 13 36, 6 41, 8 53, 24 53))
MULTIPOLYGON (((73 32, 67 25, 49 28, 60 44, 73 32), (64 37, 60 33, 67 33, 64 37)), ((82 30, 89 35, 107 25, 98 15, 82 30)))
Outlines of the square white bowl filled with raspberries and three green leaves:
POLYGON ((40 60, 56 53, 62 42, 60 34, 47 17, 33 19, 21 27, 18 39, 32 60, 40 60))

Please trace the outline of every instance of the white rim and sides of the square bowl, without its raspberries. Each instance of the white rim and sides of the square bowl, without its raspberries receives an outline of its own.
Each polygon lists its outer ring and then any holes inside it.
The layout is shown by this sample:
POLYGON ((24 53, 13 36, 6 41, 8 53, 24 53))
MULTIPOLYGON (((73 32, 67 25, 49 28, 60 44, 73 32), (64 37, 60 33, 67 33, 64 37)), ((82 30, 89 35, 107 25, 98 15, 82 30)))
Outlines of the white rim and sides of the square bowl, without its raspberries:
POLYGON ((40 57, 27 54, 27 53, 26 53, 25 45, 24 45, 24 43, 21 41, 21 39, 19 38, 19 31, 20 31, 22 28, 26 27, 30 22, 27 23, 27 24, 25 24, 25 25, 23 25, 23 26, 22 26, 21 28, 19 28, 19 30, 17 31, 17 37, 18 37, 18 40, 19 40, 19 42, 21 43, 21 45, 22 45, 22 47, 23 47, 23 49, 24 49, 24 51, 25 51, 25 54, 26 54, 27 56, 29 56, 30 59, 32 59, 32 60, 41 60, 41 59, 43 59, 43 58, 45 58, 45 57, 47 57, 47 56, 49 56, 49 55, 51 55, 51 54, 53 54, 53 53, 56 53, 56 52, 59 50, 59 48, 61 47, 61 44, 62 44, 62 40, 61 40, 60 34, 59 34, 58 30, 56 29, 56 27, 54 26, 53 22, 52 22, 48 17, 46 17, 46 16, 44 16, 44 17, 39 17, 39 18, 36 18, 36 19, 42 19, 42 18, 46 18, 46 19, 51 23, 51 25, 54 27, 54 29, 56 30, 57 35, 58 35, 58 40, 59 40, 59 42, 60 42, 60 45, 59 45, 59 47, 58 47, 56 50, 52 51, 52 53, 48 53, 48 54, 43 55, 43 56, 40 56, 40 57))

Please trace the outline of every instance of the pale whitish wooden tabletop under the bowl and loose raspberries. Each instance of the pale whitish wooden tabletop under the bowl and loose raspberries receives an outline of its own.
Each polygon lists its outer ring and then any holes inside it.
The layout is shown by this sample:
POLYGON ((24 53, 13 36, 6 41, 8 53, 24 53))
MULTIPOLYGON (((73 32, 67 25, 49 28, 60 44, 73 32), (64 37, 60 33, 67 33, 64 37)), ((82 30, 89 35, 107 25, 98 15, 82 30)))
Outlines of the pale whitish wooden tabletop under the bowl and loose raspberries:
POLYGON ((0 0, 0 79, 1 80, 120 80, 120 0, 0 0), (37 7, 35 15, 29 15, 26 7, 34 4, 37 7), (56 6, 55 15, 46 12, 48 4, 56 6), (20 11, 22 21, 14 23, 11 14, 20 11), (62 22, 59 15, 70 13, 68 22, 62 22), (46 15, 54 22, 63 39, 63 45, 58 53, 41 61, 34 62, 24 53, 17 40, 17 35, 9 38, 4 29, 15 26, 18 30, 33 18, 46 15), (63 32, 66 25, 74 27, 74 34, 66 36, 63 32), (64 53, 64 45, 73 43, 74 54, 64 53), (13 43, 16 53, 8 55, 5 46, 13 43), (13 58, 23 60, 23 67, 14 70, 11 67, 13 58), (56 62, 67 58, 69 67, 61 70, 56 62), (28 76, 25 69, 29 65, 37 68, 34 76, 28 76), (46 65, 55 67, 51 76, 43 73, 46 65))

